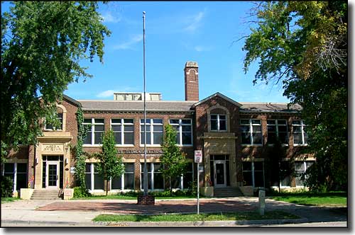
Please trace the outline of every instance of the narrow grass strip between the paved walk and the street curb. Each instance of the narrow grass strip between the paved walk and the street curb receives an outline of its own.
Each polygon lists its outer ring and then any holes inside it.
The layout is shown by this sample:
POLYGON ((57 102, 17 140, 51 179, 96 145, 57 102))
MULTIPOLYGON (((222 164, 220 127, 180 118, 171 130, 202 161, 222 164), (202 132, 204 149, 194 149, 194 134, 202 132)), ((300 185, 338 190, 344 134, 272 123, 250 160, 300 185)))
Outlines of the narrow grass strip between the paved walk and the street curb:
POLYGON ((294 214, 282 211, 265 212, 261 216, 257 211, 213 213, 213 214, 99 214, 94 222, 195 222, 224 220, 258 220, 258 219, 299 219, 294 214))

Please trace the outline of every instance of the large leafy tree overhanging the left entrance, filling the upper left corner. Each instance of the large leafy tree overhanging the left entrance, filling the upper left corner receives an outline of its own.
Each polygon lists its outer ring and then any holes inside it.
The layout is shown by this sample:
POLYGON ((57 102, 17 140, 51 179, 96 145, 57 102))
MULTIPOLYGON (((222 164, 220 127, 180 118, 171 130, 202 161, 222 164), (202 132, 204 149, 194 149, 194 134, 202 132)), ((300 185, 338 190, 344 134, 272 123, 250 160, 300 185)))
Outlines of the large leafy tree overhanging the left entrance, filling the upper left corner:
POLYGON ((103 62, 96 1, 16 1, 1 16, 1 161, 18 144, 35 144, 40 118, 59 126, 56 102, 67 85, 87 79, 83 59, 103 62), (41 98, 41 99, 40 99, 41 98))

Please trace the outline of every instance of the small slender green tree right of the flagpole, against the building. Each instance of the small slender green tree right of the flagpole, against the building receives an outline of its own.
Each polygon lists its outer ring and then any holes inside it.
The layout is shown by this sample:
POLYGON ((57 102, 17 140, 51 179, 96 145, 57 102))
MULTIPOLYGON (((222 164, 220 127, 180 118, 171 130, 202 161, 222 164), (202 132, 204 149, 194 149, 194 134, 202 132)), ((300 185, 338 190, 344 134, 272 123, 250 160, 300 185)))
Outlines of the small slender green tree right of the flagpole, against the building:
POLYGON ((160 156, 160 163, 163 164, 161 170, 164 178, 169 179, 170 192, 172 191, 172 179, 181 176, 186 171, 187 159, 176 144, 176 130, 171 125, 165 125, 163 139, 163 155, 160 156))

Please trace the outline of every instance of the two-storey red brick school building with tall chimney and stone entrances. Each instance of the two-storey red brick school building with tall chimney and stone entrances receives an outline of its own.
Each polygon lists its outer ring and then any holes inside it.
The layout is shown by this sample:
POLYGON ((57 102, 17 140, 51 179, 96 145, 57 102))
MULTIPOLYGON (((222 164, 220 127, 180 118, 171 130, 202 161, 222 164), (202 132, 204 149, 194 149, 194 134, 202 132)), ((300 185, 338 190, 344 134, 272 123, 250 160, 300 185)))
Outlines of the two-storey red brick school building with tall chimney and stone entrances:
MULTIPOLYGON (((173 125, 177 144, 190 159, 187 173, 173 181, 173 188, 190 188, 197 177, 194 150, 202 150, 200 171, 202 193, 208 196, 241 190, 249 195, 258 187, 303 187, 300 173, 315 159, 300 154, 307 145, 305 123, 297 117, 300 106, 287 103, 239 103, 222 93, 200 100, 199 73, 196 62, 185 64, 185 101, 161 101, 160 93, 146 93, 147 163, 149 190, 164 190, 159 171, 163 126, 173 125), (276 163, 273 143, 278 137, 285 151, 276 163)), ((143 93, 115 93, 112 101, 76 101, 63 96, 58 104, 60 130, 43 125, 38 145, 11 152, 2 167, 11 176, 14 190, 20 188, 54 189, 75 186, 77 108, 84 112, 84 125, 90 125, 84 151, 101 151, 101 134, 114 130, 125 172, 111 179, 110 193, 143 188, 143 93)), ((104 193, 104 180, 95 171, 95 159, 86 160, 85 179, 91 193, 104 193)), ((19 191, 18 191, 19 192, 19 191)))

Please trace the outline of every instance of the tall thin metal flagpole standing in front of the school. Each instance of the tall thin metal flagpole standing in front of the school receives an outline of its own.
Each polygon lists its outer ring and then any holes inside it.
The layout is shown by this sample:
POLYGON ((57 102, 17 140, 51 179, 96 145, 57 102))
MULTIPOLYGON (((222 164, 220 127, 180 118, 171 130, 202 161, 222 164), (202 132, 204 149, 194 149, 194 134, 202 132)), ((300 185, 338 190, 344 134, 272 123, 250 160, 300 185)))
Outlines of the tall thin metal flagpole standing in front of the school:
POLYGON ((147 130, 146 130, 146 11, 143 11, 143 90, 144 90, 144 195, 148 195, 147 130))

